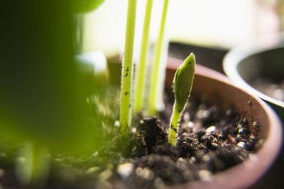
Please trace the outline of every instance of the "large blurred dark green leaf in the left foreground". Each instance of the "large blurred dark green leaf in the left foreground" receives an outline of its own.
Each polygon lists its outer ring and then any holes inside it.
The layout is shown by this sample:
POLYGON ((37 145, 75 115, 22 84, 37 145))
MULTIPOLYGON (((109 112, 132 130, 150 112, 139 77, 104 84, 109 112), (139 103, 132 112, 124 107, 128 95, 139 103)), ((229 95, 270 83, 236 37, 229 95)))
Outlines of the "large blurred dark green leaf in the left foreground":
POLYGON ((0 2, 0 136, 84 147, 84 88, 66 1, 0 2))

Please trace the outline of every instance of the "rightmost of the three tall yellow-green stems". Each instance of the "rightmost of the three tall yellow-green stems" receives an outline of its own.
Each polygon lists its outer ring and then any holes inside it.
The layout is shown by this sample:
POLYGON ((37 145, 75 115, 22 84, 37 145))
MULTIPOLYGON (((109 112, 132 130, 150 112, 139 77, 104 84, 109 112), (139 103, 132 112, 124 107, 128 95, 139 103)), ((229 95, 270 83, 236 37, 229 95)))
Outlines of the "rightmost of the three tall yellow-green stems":
POLYGON ((164 1, 163 6, 163 15, 160 23, 160 32, 158 37, 158 44, 155 48, 155 59, 153 62, 153 69, 151 70, 151 80, 150 80, 150 88, 149 88, 149 96, 148 96, 148 113, 150 115, 154 115, 157 112, 157 103, 158 103, 158 78, 160 77, 159 68, 160 68, 160 57, 162 55, 162 47, 164 41, 165 34, 165 21, 168 12, 168 1, 164 1))

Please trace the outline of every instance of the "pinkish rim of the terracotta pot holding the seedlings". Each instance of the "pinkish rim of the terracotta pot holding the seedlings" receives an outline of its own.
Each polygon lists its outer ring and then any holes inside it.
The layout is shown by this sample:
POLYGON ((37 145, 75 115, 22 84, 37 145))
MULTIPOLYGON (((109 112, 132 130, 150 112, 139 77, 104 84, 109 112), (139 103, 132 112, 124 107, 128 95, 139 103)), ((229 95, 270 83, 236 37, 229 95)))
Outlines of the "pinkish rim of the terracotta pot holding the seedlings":
MULTIPOLYGON (((173 62, 182 61, 180 59, 174 59, 173 62)), ((167 68, 177 69, 178 65, 168 63, 167 68)), ((265 110, 271 127, 268 130, 268 135, 263 147, 261 147, 261 149, 259 149, 252 158, 246 159, 243 163, 226 169, 225 171, 214 174, 210 181, 192 181, 185 184, 175 185, 175 188, 247 188, 253 185, 253 183, 256 183, 256 181, 258 181, 258 179, 261 178, 266 171, 268 171, 278 156, 282 144, 282 123, 280 122, 278 115, 276 115, 274 110, 268 104, 258 98, 251 91, 247 91, 246 88, 236 86, 236 84, 233 84, 233 82, 223 74, 207 67, 202 67, 198 64, 195 74, 233 86, 242 93, 246 93, 251 96, 251 98, 259 103, 265 110)))

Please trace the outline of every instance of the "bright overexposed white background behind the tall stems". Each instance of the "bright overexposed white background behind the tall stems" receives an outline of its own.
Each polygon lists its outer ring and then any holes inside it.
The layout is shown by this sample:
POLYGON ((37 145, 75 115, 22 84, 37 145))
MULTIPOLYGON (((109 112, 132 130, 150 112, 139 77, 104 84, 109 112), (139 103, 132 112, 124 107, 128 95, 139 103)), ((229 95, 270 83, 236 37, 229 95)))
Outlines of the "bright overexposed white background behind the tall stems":
MULTIPOLYGON (((126 2, 107 0, 96 11, 84 16, 83 52, 102 50, 107 57, 121 52, 124 44, 126 2)), ((145 6, 146 1, 138 0, 136 52, 141 43, 141 23, 145 6)), ((152 42, 158 35, 162 7, 163 0, 154 1, 152 42)), ((283 1, 280 0, 170 1, 167 25, 171 42, 170 53, 172 47, 193 45, 204 48, 197 50, 219 50, 222 56, 222 52, 250 38, 282 30, 283 10, 283 1)), ((180 50, 175 52, 175 48, 173 50, 174 54, 170 54, 171 56, 183 58, 188 54, 188 49, 186 55, 179 52, 180 50)))

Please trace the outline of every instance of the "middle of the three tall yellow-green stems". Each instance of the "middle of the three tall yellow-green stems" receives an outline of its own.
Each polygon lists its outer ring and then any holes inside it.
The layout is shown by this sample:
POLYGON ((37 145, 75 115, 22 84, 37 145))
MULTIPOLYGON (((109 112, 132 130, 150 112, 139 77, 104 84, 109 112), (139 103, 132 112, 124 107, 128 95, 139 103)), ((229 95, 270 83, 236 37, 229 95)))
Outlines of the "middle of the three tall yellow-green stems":
POLYGON ((153 0, 148 0, 146 5, 146 13, 144 18, 143 25, 143 36, 141 43, 141 52, 140 59, 136 74, 136 83, 135 83, 135 96, 134 96, 134 110, 136 112, 143 109, 143 100, 145 94, 145 85, 146 85, 146 60, 148 54, 148 36, 150 29, 151 13, 153 7, 153 0))

